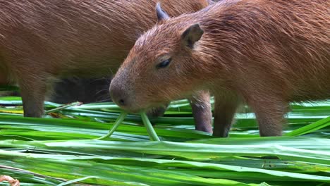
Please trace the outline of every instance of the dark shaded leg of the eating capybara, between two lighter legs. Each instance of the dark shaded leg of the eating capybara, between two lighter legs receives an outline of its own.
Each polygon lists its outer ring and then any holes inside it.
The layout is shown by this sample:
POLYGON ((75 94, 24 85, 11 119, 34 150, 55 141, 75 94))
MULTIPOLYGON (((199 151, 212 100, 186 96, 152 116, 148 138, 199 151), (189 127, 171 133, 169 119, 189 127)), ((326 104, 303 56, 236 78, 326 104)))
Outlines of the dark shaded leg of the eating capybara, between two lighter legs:
POLYGON ((228 137, 237 107, 237 99, 215 97, 213 136, 228 137))

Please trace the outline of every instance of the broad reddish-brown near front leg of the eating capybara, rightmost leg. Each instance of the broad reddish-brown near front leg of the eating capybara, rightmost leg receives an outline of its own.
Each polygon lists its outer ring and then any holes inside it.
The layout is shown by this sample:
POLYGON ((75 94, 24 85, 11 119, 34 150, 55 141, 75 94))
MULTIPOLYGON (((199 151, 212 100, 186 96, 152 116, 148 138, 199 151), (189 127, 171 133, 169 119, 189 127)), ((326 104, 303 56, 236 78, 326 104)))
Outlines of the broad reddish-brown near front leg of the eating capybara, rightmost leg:
POLYGON ((267 100, 250 103, 259 124, 260 136, 280 136, 284 123, 283 115, 288 109, 288 104, 276 98, 267 100))

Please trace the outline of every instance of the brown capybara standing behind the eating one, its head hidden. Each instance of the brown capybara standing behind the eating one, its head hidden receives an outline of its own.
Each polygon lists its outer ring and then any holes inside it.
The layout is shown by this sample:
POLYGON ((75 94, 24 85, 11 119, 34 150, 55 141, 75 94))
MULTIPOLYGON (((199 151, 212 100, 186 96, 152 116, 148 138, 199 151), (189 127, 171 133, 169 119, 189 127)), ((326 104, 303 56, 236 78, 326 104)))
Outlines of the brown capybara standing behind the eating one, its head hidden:
MULTIPOLYGON (((0 78, 19 85, 24 116, 42 116, 44 95, 57 77, 115 73, 135 40, 157 23, 157 1, 0 0, 0 78)), ((208 5, 161 2, 171 16, 208 5)), ((209 103, 202 103, 199 108, 210 113, 209 103)))

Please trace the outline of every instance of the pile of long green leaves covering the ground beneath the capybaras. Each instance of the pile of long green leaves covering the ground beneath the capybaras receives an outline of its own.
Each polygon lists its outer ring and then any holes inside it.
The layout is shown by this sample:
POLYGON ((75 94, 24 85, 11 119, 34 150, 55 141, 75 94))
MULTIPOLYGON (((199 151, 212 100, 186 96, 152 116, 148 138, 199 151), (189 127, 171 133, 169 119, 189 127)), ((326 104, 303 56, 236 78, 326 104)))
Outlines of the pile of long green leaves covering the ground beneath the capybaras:
MULTIPOLYGON (((283 137, 259 137, 248 108, 229 138, 193 130, 188 101, 150 118, 112 103, 62 106, 45 102, 47 118, 23 118, 20 98, 1 97, 0 175, 21 185, 330 185, 330 101, 292 104, 283 137)), ((0 185, 8 185, 0 182, 0 185)))

